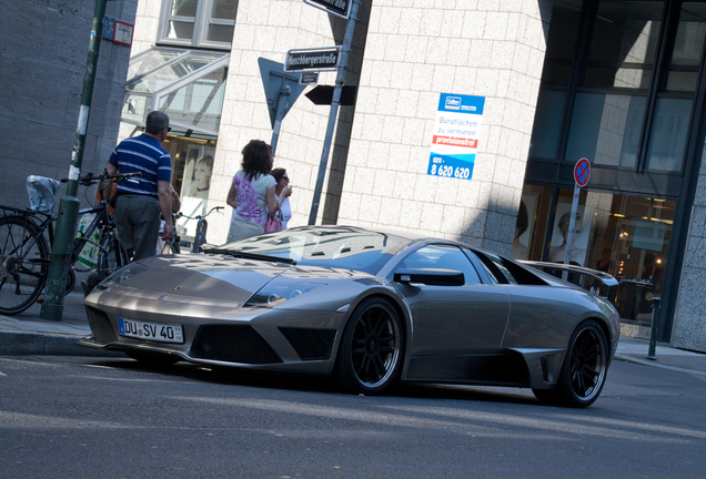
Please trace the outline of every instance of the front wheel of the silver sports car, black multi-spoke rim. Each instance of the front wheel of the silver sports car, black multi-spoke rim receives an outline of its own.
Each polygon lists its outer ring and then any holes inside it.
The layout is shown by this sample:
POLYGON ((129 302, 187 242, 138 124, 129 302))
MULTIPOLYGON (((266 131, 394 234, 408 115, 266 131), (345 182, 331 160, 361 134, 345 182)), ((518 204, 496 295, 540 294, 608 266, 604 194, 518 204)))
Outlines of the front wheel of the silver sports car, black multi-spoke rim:
POLYGON ((364 299, 341 338, 337 373, 342 385, 354 394, 381 394, 397 377, 402 344, 402 325, 394 306, 381 297, 364 299))

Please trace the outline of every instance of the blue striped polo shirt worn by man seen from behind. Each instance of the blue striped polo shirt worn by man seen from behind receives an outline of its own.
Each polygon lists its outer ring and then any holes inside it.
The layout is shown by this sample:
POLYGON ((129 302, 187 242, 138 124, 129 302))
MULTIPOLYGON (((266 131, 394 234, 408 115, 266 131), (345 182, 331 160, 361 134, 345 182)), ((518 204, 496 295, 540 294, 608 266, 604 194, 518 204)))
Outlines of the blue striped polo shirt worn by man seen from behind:
POLYGON ((142 173, 131 180, 118 183, 123 194, 158 196, 158 181, 171 181, 172 160, 160 142, 148 134, 121 141, 110 155, 109 163, 120 173, 142 173))

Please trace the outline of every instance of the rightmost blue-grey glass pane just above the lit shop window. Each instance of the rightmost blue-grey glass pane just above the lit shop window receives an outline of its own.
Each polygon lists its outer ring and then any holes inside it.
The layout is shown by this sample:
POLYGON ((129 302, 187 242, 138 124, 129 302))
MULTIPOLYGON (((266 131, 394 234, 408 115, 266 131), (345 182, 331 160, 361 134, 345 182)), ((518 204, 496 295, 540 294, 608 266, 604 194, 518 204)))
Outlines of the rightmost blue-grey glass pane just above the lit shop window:
POLYGON ((647 147, 647 170, 680 172, 692 114, 692 100, 657 99, 647 147))

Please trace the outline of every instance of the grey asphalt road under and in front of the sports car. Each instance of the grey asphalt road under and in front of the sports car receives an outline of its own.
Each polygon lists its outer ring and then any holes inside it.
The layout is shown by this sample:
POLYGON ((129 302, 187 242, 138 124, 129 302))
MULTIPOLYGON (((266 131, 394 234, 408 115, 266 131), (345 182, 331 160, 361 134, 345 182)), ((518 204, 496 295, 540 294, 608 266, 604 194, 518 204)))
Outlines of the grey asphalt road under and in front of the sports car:
POLYGON ((131 359, 0 357, 0 477, 702 478, 706 376, 616 361, 597 402, 131 359))

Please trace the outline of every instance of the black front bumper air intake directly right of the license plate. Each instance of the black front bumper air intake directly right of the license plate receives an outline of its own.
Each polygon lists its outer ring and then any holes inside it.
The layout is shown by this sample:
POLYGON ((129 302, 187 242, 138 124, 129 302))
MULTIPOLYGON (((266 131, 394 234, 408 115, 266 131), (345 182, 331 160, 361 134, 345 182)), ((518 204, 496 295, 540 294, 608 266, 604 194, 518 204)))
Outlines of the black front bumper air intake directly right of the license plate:
POLYGON ((191 347, 194 358, 242 364, 282 363, 280 356, 249 325, 201 326, 191 347))

